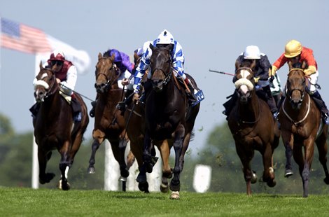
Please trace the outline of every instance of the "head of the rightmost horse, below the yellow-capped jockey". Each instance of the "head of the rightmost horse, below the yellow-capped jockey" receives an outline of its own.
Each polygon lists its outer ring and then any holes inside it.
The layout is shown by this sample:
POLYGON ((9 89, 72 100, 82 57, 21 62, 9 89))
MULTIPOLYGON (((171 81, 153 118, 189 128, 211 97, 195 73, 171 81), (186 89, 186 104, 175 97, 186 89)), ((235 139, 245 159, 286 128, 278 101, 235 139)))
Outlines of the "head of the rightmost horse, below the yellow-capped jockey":
POLYGON ((288 62, 289 73, 286 83, 286 96, 293 109, 300 109, 304 99, 307 79, 304 76, 306 63, 294 64, 288 62))

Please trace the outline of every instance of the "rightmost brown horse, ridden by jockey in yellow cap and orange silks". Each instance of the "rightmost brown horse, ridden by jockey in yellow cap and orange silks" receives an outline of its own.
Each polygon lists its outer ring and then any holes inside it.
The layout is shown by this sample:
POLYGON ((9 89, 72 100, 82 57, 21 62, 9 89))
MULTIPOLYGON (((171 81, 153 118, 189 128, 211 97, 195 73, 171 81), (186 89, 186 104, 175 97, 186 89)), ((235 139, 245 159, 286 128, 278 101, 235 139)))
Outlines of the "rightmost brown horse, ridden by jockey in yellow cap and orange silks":
POLYGON ((325 172, 324 181, 327 185, 329 184, 326 157, 328 125, 323 126, 321 112, 307 93, 306 87, 309 80, 305 78, 303 69, 294 68, 291 62, 288 65, 286 99, 281 106, 279 122, 282 141, 286 148, 286 169, 291 168, 290 158, 293 155, 302 177, 303 197, 307 197, 314 142, 318 147, 318 159, 325 172))

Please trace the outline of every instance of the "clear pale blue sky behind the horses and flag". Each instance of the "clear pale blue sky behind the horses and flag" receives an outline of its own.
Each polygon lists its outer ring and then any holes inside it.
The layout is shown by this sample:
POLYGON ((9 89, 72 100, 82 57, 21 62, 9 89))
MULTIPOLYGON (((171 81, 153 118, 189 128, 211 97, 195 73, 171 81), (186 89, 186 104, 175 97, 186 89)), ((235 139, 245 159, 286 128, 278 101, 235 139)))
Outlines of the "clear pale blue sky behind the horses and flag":
MULTIPOLYGON (((132 55, 144 41, 168 29, 181 43, 185 69, 206 99, 195 123, 193 153, 207 144, 216 125, 225 122, 223 103, 232 94, 235 59, 247 45, 258 45, 273 63, 290 39, 312 48, 320 73, 320 93, 329 104, 329 1, 0 1, 0 16, 42 29, 91 57, 88 73, 78 75, 76 91, 94 99, 94 65, 99 52, 116 48, 132 55)), ((34 103, 34 55, 1 48, 0 113, 17 132, 32 131, 29 107, 34 103)), ((279 70, 286 83, 286 66, 279 70)), ((88 109, 90 101, 85 100, 88 109)), ((91 137, 91 118, 85 137, 91 137)), ((218 132, 220 133, 220 132, 218 132)), ((218 144, 220 145, 220 144, 218 144)))

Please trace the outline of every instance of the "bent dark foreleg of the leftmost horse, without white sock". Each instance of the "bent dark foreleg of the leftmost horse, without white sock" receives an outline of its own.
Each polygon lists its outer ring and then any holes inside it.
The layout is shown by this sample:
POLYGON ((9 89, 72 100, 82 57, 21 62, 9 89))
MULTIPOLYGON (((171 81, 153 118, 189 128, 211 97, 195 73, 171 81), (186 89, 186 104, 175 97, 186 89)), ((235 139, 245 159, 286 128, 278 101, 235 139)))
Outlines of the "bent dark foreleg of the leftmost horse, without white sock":
POLYGON ((39 183, 49 183, 54 177, 53 173, 45 173, 45 168, 47 167, 47 162, 51 157, 51 151, 49 153, 45 153, 42 148, 38 147, 38 166, 39 166, 39 183))

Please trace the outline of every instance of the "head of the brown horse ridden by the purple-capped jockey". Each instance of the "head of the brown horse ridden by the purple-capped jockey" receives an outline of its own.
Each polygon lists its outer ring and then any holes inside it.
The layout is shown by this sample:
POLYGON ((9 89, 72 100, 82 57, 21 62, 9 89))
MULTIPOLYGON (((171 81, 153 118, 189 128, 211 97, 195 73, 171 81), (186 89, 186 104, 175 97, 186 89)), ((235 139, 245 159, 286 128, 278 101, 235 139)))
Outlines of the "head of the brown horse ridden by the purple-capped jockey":
POLYGON ((99 52, 95 70, 96 83, 94 83, 98 93, 106 92, 112 85, 118 83, 120 69, 116 67, 113 60, 114 54, 110 56, 109 51, 105 52, 104 55, 99 52))

